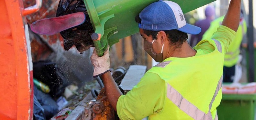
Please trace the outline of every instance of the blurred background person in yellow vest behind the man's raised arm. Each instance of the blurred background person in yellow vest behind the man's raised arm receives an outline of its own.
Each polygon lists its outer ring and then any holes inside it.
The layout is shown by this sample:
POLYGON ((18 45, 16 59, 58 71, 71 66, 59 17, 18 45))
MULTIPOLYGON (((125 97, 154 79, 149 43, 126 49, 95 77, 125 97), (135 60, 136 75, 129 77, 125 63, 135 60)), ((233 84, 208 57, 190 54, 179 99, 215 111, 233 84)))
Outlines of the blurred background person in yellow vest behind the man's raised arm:
MULTIPOLYGON (((221 16, 213 20, 209 29, 205 31, 202 39, 210 39, 212 34, 217 31, 217 28, 221 25, 223 19, 224 16, 221 16)), ((236 31, 236 37, 229 45, 228 52, 226 52, 224 56, 223 82, 234 82, 234 80, 238 82, 242 76, 242 68, 240 66, 242 55, 240 55, 240 46, 246 32, 246 21, 241 11, 240 24, 236 31)))

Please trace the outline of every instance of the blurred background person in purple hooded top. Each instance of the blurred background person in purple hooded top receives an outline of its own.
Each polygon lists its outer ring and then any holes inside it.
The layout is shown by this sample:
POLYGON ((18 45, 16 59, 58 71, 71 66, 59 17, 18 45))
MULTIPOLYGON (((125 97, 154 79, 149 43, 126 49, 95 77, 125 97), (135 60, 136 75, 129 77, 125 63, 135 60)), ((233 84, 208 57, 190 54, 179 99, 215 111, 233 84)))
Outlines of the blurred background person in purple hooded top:
POLYGON ((195 26, 200 27, 202 29, 201 33, 199 33, 198 35, 192 35, 190 37, 190 46, 194 47, 196 46, 196 44, 202 40, 202 36, 204 35, 204 32, 210 27, 210 24, 212 22, 212 20, 214 20, 215 18, 215 8, 213 5, 208 5, 205 8, 204 11, 205 14, 205 19, 203 20, 198 20, 195 23, 195 26))

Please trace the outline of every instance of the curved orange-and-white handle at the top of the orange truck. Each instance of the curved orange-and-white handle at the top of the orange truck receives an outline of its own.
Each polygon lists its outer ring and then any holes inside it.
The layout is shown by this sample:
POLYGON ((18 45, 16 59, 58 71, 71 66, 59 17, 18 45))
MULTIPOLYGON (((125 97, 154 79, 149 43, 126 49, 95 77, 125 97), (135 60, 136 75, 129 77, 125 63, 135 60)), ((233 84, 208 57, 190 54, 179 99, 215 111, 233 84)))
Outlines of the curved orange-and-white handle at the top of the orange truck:
POLYGON ((28 15, 28 14, 32 14, 34 12, 37 12, 39 10, 39 8, 41 8, 42 6, 42 0, 36 0, 36 4, 33 5, 33 6, 30 6, 30 7, 27 7, 25 8, 23 11, 22 11, 22 15, 25 16, 25 15, 28 15))

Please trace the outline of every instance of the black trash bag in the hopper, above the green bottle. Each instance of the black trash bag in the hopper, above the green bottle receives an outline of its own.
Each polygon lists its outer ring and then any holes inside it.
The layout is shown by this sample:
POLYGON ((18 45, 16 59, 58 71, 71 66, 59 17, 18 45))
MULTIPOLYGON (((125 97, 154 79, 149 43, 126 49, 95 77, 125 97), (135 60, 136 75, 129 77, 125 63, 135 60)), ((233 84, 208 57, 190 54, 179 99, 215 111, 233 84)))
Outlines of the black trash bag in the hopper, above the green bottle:
POLYGON ((62 95, 67 86, 63 84, 63 80, 67 81, 66 78, 57 65, 50 60, 33 62, 33 77, 49 86, 49 94, 54 100, 62 95))

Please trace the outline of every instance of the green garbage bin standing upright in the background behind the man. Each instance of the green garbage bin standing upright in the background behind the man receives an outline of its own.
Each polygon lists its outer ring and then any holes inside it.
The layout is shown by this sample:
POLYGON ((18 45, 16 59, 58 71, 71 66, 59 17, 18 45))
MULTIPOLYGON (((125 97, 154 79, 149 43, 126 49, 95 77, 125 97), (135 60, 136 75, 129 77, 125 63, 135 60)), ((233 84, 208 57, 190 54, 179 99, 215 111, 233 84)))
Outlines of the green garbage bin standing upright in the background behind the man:
MULTIPOLYGON (((225 84, 225 83, 224 83, 225 84)), ((256 94, 222 94, 219 120, 255 120, 256 94)))

